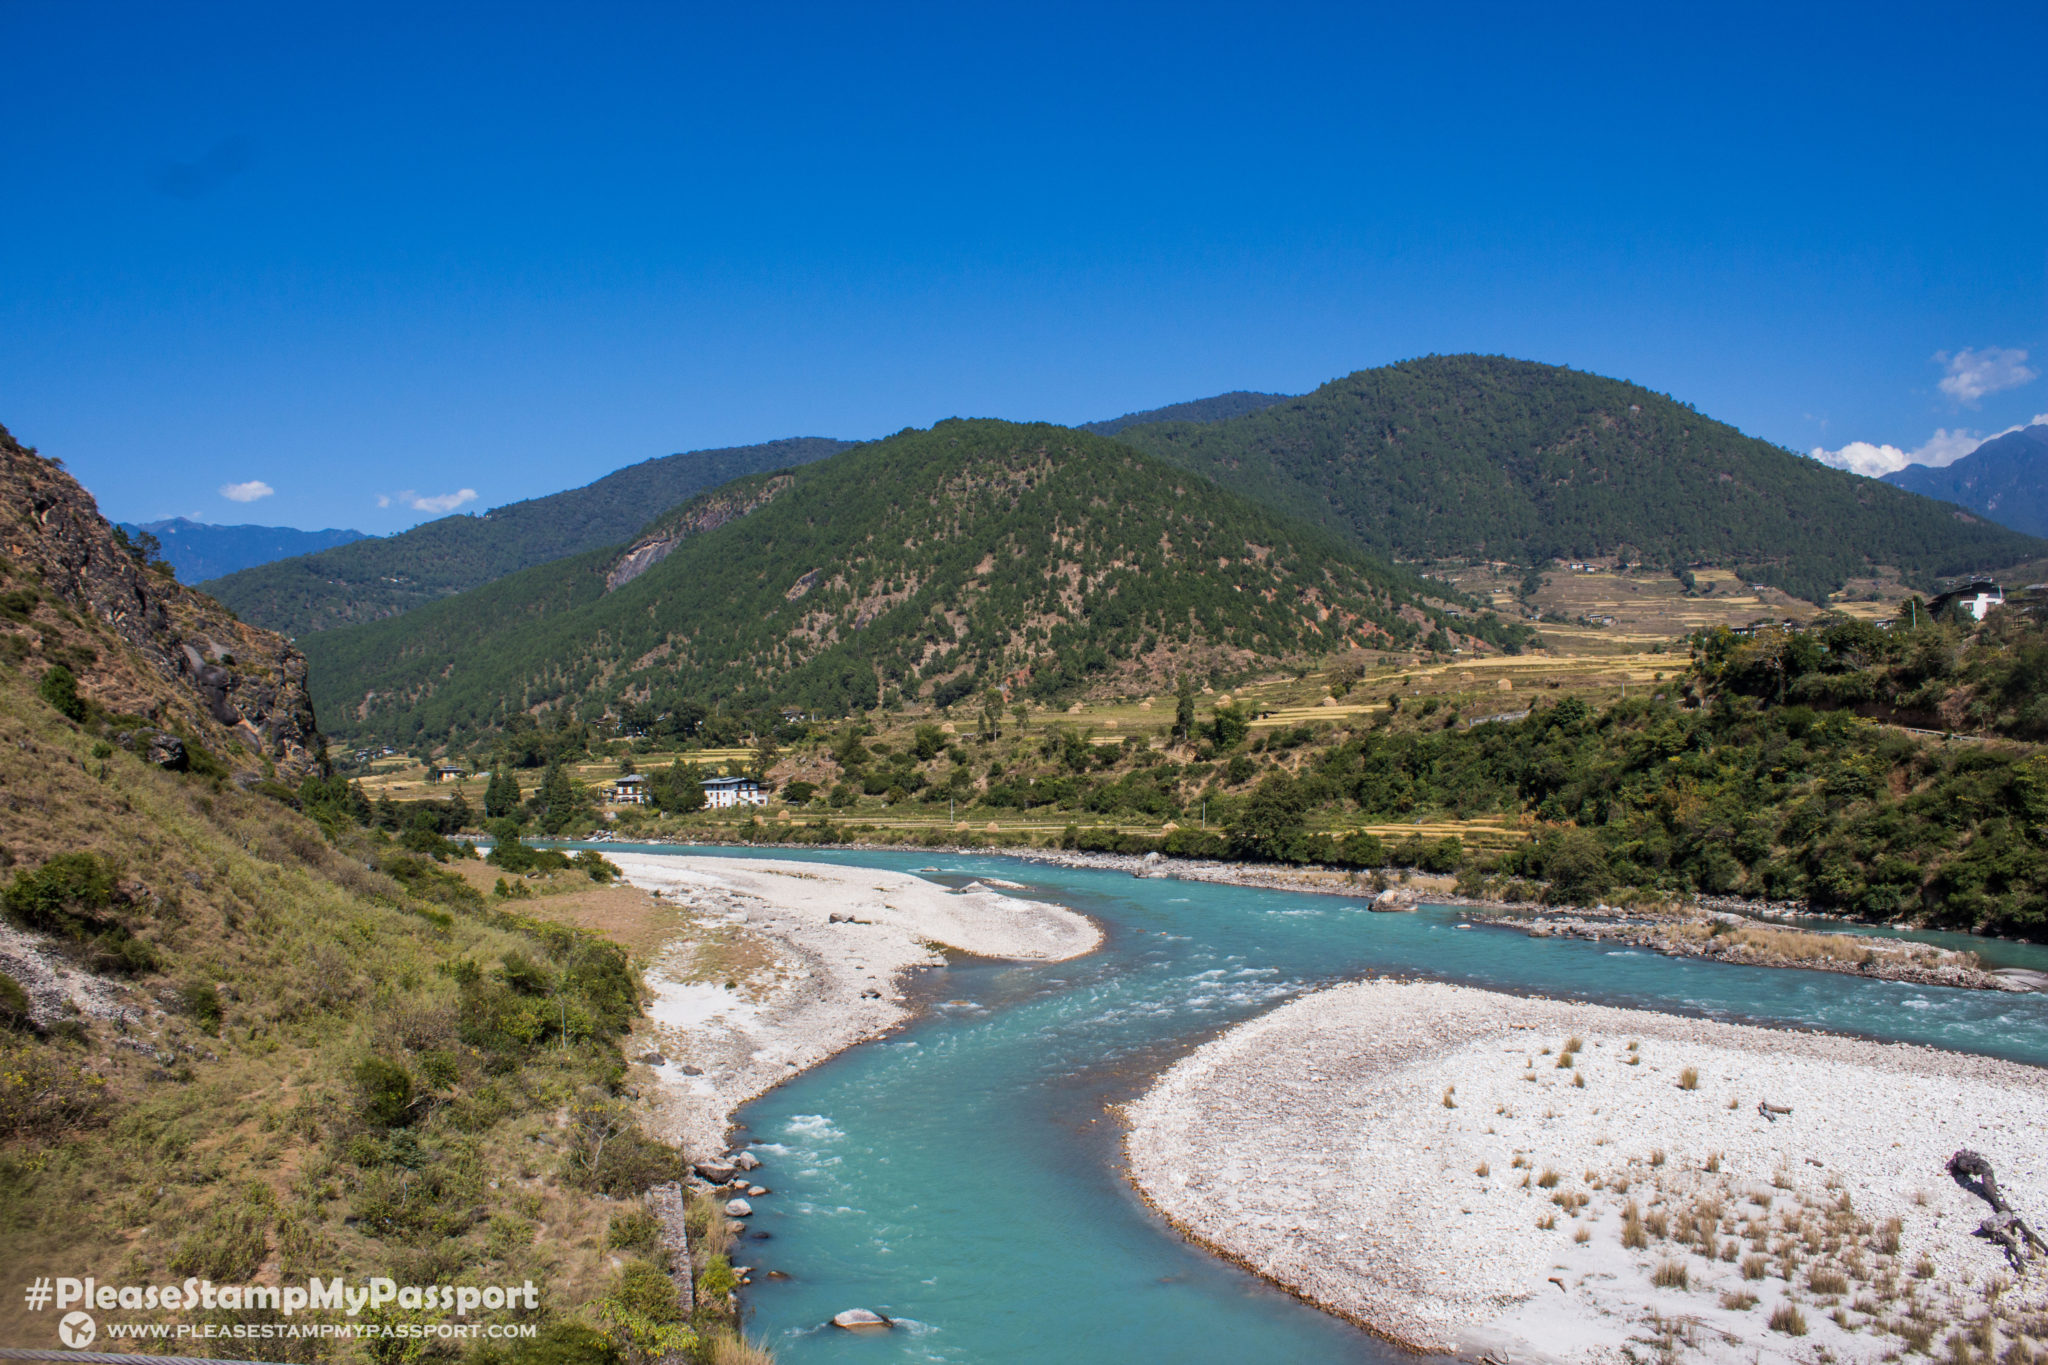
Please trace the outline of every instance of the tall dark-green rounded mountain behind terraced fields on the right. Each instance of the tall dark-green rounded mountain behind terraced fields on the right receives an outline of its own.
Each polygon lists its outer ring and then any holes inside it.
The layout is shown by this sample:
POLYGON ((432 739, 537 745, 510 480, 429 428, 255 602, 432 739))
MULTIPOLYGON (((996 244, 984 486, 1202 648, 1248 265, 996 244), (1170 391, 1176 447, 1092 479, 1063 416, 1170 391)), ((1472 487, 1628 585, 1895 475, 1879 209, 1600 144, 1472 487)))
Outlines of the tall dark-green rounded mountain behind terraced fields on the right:
POLYGON ((2048 553, 1649 389, 1499 356, 1358 370, 1118 440, 1395 559, 1712 563, 1823 600, 1870 565, 1925 583, 2048 553))

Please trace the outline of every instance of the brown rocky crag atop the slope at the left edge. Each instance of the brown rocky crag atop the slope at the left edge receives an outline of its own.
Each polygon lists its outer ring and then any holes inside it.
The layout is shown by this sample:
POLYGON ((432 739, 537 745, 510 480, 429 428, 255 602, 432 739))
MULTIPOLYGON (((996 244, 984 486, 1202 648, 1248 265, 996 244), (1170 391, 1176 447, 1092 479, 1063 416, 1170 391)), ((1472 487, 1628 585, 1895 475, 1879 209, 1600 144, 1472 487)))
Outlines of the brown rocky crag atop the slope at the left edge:
MULTIPOLYGON (((113 712, 180 726, 229 765, 270 759, 289 778, 319 765, 299 651, 279 634, 242 624, 168 571, 137 563, 92 495, 6 428, 0 428, 0 555, 8 561, 8 587, 35 598, 0 622, 20 630, 27 667, 66 663, 84 696, 113 712)), ((176 737, 143 737, 143 743, 156 761, 182 763, 176 737)))

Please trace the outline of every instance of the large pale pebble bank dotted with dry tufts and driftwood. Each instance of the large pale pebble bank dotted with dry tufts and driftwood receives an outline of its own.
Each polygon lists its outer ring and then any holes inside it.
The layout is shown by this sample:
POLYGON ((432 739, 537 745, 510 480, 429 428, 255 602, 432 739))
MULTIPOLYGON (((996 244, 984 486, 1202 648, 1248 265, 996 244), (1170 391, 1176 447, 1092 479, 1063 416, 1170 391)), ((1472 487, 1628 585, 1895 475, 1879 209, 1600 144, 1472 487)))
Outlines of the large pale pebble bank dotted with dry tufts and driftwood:
POLYGON ((1362 982, 1206 1044, 1128 1121, 1176 1226, 1417 1349, 1733 1365, 2048 1334, 2048 1271, 1972 1236, 1989 1207, 1946 1173, 1974 1148, 2048 1224, 2030 1066, 1362 982))

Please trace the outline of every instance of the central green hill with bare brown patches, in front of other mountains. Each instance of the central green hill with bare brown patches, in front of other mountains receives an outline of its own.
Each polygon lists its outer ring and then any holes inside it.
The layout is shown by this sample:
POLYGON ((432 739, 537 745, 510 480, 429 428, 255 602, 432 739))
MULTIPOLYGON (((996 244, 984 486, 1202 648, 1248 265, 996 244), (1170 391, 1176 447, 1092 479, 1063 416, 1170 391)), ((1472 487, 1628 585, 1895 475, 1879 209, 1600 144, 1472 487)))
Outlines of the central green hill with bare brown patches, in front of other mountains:
MULTIPOLYGON (((342 735, 465 739, 510 714, 694 704, 848 714, 1171 686, 1184 669, 1432 643, 1419 579, 1126 446, 1057 426, 942 422, 754 475, 623 551, 528 569, 303 645, 342 735), (608 587, 616 583, 616 587, 608 587)), ((1470 643, 1470 641, 1464 641, 1470 643)))

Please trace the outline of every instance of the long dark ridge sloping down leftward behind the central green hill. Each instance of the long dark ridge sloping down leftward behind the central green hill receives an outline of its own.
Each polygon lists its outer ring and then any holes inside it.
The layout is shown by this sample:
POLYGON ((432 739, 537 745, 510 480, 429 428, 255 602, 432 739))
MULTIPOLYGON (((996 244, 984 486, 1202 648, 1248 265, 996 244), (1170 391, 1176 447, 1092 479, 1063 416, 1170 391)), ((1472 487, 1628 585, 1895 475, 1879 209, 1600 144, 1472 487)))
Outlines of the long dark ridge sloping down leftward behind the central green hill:
POLYGON ((483 516, 446 516, 395 536, 231 573, 207 591, 244 620, 285 634, 381 620, 530 565, 618 544, 692 493, 764 469, 821 460, 846 446, 844 440, 799 436, 668 454, 483 516))

